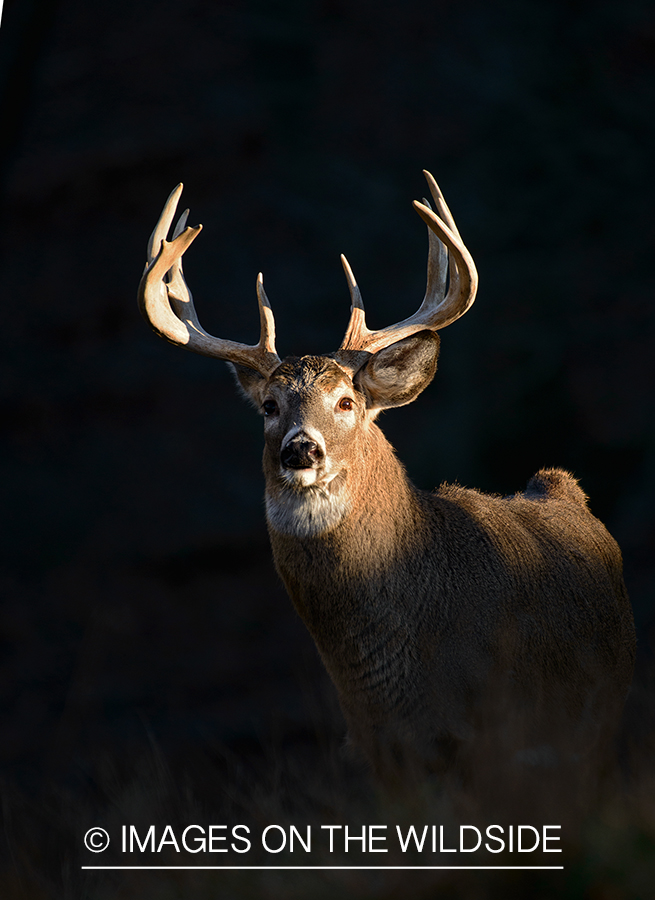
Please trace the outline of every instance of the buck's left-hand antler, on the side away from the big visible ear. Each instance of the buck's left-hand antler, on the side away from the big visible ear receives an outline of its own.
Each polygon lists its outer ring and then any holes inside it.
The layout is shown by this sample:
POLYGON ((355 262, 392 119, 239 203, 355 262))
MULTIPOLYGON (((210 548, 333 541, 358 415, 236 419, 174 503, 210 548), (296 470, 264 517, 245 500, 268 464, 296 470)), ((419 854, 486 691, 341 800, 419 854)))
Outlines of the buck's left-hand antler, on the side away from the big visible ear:
POLYGON ((212 337, 198 321, 193 298, 182 273, 182 255, 202 230, 202 225, 185 228, 189 210, 180 216, 173 238, 166 240, 182 194, 178 184, 166 201, 148 242, 148 262, 139 284, 139 308, 161 337, 188 350, 239 363, 268 376, 280 364, 275 352, 275 320, 264 292, 261 272, 257 277, 259 301, 259 343, 250 346, 212 337))

